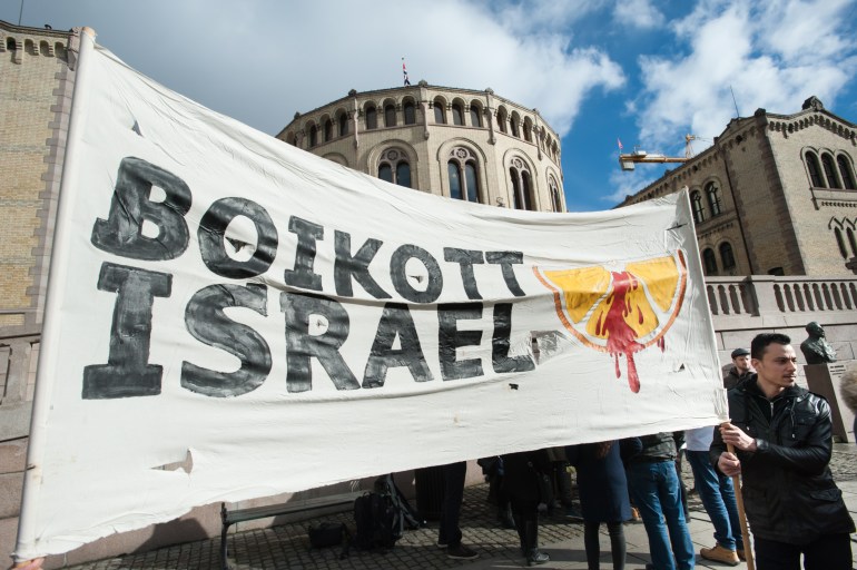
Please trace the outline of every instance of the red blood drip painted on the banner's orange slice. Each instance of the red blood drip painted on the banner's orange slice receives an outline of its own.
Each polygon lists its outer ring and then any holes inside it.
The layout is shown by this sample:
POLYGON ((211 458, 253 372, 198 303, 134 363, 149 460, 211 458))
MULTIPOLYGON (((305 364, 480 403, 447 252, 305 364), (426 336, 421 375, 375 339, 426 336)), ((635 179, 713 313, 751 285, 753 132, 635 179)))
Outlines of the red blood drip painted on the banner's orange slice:
POLYGON ((630 301, 625 297, 629 292, 639 287, 639 284, 634 276, 628 272, 611 273, 613 275, 613 291, 607 299, 610 308, 607 315, 603 315, 603 321, 599 316, 595 332, 599 336, 607 336, 607 352, 615 360, 615 377, 622 376, 619 370, 619 355, 623 354, 628 360, 628 385, 631 387, 631 392, 637 393, 640 391, 640 377, 637 375, 633 353, 643 350, 643 345, 637 342, 636 333, 625 320, 636 309, 638 321, 642 324, 643 315, 640 307, 631 307, 630 301))

